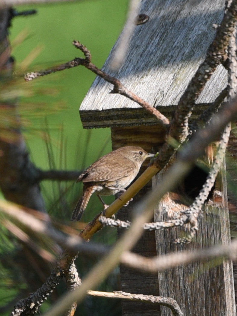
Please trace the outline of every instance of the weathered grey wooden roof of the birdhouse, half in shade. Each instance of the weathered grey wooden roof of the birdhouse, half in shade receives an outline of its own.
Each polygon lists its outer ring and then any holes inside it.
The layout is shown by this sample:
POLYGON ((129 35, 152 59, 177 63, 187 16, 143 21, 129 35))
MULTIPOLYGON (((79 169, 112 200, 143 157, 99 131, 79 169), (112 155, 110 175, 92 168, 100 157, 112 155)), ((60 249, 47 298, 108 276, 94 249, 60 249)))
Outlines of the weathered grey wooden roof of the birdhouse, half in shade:
MULTIPOLYGON (((135 27, 121 68, 109 68, 116 43, 102 69, 170 117, 205 58, 216 33, 213 25, 222 21, 224 5, 223 0, 141 1, 139 14, 148 15, 149 21, 135 27)), ((196 101, 194 116, 226 85, 227 71, 219 65, 196 101)), ((137 103, 110 94, 112 89, 100 77, 92 83, 80 106, 84 128, 157 124, 137 103)))

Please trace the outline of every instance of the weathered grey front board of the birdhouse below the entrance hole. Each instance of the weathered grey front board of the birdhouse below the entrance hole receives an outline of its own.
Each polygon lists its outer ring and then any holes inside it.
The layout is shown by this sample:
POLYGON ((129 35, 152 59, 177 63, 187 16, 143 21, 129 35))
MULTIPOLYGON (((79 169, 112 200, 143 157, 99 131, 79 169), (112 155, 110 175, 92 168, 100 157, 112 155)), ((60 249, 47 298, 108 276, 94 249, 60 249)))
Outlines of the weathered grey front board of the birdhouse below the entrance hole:
MULTIPOLYGON (((175 239, 183 234, 180 228, 157 231, 157 254, 186 249, 195 251, 198 248, 226 244, 230 241, 225 168, 222 170, 216 180, 212 202, 205 205, 202 216, 198 217, 199 230, 196 238, 188 245, 175 245, 175 239)), ((156 221, 177 216, 173 211, 177 201, 169 197, 170 195, 166 195, 158 204, 155 212, 156 221)), ((178 207, 176 209, 178 210, 178 207)), ((160 295, 177 300, 186 316, 236 315, 232 262, 212 260, 159 272, 159 289, 160 295)), ((161 313, 171 316, 163 307, 161 313)))

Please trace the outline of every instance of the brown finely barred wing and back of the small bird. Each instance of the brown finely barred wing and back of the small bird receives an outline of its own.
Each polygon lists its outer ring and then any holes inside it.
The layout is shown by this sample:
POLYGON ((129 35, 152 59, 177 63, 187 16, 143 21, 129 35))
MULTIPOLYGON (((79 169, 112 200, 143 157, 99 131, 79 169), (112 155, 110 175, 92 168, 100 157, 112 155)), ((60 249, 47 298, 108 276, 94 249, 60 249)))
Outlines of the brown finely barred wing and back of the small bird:
POLYGON ((122 155, 116 155, 116 157, 111 156, 111 159, 108 158, 109 157, 105 155, 94 162, 86 169, 83 176, 80 175, 80 177, 82 177, 79 181, 116 181, 136 172, 136 165, 130 159, 122 155))

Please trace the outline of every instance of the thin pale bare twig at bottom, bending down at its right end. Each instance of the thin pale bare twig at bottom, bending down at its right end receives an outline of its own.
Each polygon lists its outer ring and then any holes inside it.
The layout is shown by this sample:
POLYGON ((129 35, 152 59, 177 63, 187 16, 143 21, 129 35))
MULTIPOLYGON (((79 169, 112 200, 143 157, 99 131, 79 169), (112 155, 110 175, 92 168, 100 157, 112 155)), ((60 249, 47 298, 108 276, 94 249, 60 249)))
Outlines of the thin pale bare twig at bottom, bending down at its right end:
POLYGON ((123 291, 114 291, 112 293, 109 293, 109 292, 99 292, 99 291, 91 291, 91 290, 87 291, 87 295, 123 299, 123 300, 129 300, 129 301, 142 301, 145 303, 152 303, 152 304, 157 304, 161 306, 167 306, 171 309, 173 315, 175 316, 183 315, 177 301, 175 301, 171 297, 131 294, 131 293, 123 292, 123 291))

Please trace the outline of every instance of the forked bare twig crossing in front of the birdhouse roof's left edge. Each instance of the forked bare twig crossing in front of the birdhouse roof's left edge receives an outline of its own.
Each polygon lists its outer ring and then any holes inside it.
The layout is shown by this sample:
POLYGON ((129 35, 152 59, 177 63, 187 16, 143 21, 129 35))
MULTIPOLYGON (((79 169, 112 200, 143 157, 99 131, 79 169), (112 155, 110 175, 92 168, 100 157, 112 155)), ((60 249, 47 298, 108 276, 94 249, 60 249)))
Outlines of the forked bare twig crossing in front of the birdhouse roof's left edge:
POLYGON ((133 92, 131 92, 127 88, 125 88, 118 79, 116 79, 115 77, 109 76, 107 73, 105 73, 104 71, 98 69, 94 64, 92 64, 92 62, 91 62, 91 53, 86 48, 86 46, 82 45, 80 42, 75 41, 75 40, 73 41, 73 45, 76 48, 80 49, 81 52, 83 52, 83 54, 85 56, 85 59, 83 59, 83 58, 75 58, 75 59, 73 59, 73 60, 71 60, 71 61, 69 61, 69 62, 67 62, 65 64, 61 64, 59 66, 56 66, 56 67, 53 67, 53 68, 50 68, 50 69, 47 69, 47 70, 27 73, 25 75, 25 80, 26 81, 30 81, 30 80, 38 78, 40 76, 49 75, 49 74, 54 73, 56 71, 62 71, 62 70, 65 70, 65 69, 77 67, 79 65, 85 66, 87 69, 89 69, 92 72, 94 72, 97 76, 102 77, 105 81, 110 82, 111 84, 114 85, 114 88, 113 88, 113 90, 110 93, 121 94, 121 95, 129 98, 130 100, 138 103, 146 111, 148 111, 149 113, 154 115, 166 129, 168 128, 169 120, 163 114, 161 114, 155 107, 151 106, 148 102, 146 102, 145 100, 141 99, 136 94, 134 94, 133 92))

